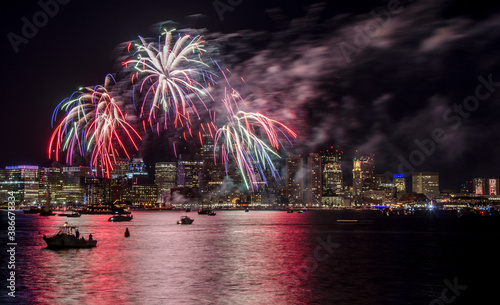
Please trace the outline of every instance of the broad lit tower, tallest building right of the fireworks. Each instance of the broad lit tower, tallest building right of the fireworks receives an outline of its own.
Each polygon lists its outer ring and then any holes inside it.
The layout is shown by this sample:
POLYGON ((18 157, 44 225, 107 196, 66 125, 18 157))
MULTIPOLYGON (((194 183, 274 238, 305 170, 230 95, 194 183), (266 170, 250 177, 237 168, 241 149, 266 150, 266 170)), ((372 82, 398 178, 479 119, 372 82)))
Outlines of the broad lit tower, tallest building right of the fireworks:
POLYGON ((343 190, 342 151, 331 149, 320 152, 323 193, 340 193, 343 190))

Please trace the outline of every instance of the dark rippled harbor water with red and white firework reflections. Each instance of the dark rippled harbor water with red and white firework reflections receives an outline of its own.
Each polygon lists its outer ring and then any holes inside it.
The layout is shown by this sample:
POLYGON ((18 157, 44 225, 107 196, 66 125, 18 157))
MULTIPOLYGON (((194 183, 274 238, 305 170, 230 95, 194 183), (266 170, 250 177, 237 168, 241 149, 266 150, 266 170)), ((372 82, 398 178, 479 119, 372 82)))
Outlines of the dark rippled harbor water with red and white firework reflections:
POLYGON ((133 212, 80 218, 16 213, 17 304, 498 304, 500 220, 454 212, 133 212), (189 215, 192 225, 176 221, 189 215), (366 224, 337 219, 373 220, 366 224), (68 221, 93 249, 49 250, 68 221), (124 237, 125 228, 131 236, 124 237), (466 288, 464 288, 466 286, 466 288))

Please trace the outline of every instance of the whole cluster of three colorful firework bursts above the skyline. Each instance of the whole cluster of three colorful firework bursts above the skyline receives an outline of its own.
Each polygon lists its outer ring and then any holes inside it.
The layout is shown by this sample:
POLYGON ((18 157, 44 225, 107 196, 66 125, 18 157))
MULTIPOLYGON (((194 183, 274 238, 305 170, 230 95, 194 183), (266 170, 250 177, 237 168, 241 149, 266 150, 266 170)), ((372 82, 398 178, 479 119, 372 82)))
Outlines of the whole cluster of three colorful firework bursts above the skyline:
MULTIPOLYGON (((160 126, 167 129, 171 124, 175 130, 185 129, 182 135, 186 142, 199 141, 201 145, 203 135, 209 135, 215 143, 214 158, 215 151, 220 149, 226 174, 229 164, 234 162, 247 189, 255 190, 259 183, 267 183, 269 175, 279 179, 273 160, 280 158, 278 151, 284 147, 280 139, 291 144, 291 138, 297 135, 279 121, 240 109, 251 102, 245 101, 229 85, 224 70, 215 60, 203 59, 205 50, 201 36, 177 35, 176 38, 174 31, 165 31, 162 36, 158 43, 139 37, 141 43, 135 45, 134 57, 122 62, 129 77, 122 83, 114 82, 114 86, 125 83, 124 87, 132 87, 132 94, 112 96, 110 92, 123 90, 108 91, 111 84, 111 76, 108 76, 104 86, 79 90, 56 107, 53 121, 60 110, 65 112, 65 117, 53 131, 49 157, 58 160, 60 152, 65 151, 66 162, 71 164, 77 153, 89 160, 93 172, 109 178, 117 158, 130 159, 129 149, 139 150, 137 144, 142 137, 127 122, 127 115, 122 110, 127 104, 133 104, 135 109, 135 88, 138 87, 142 106, 136 109, 138 113, 134 116, 142 119, 144 132, 146 124, 152 130, 156 127, 158 134, 160 126), (215 99, 211 92, 218 89, 216 79, 219 75, 226 80, 229 89, 224 87, 224 98, 215 99), (214 106, 212 109, 207 101, 214 106), (204 110, 202 115, 199 109, 204 110), (218 109, 223 109, 223 114, 217 117, 225 119, 219 122, 221 128, 217 128, 216 122, 218 109), (197 124, 195 131, 193 118, 197 124)), ((129 54, 131 47, 129 43, 129 54)), ((175 141, 172 146, 177 155, 175 141)))

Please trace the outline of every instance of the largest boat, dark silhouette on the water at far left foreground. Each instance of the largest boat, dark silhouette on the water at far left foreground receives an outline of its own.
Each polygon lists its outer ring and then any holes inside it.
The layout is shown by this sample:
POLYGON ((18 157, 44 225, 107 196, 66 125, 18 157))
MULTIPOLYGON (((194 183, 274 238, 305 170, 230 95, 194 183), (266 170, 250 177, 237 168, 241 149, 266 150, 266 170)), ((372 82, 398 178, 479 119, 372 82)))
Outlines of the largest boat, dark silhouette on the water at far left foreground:
POLYGON ((43 240, 47 243, 50 249, 69 249, 69 248, 92 248, 97 245, 97 240, 89 239, 79 236, 78 229, 75 226, 68 225, 67 222, 59 228, 59 231, 51 237, 43 236, 43 240))

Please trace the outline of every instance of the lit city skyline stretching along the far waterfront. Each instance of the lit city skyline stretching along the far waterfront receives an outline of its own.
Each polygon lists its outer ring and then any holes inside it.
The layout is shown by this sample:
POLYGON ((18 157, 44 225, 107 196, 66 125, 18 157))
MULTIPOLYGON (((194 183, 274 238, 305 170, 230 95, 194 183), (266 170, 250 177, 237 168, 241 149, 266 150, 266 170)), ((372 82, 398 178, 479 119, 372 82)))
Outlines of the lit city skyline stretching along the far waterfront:
POLYGON ((94 205, 119 200, 134 206, 178 204, 206 196, 210 200, 220 198, 221 203, 223 200, 234 203, 235 198, 240 198, 252 204, 308 206, 396 204, 400 200, 411 200, 413 193, 438 202, 446 202, 450 195, 468 194, 493 195, 488 200, 499 199, 498 178, 474 177, 459 188, 449 190, 441 187, 438 172, 414 172, 410 177, 377 174, 373 154, 354 156, 353 179, 349 184, 344 176, 351 173, 342 169, 343 152, 336 149, 307 156, 289 155, 283 164, 281 179, 273 181, 266 177, 266 184, 264 180, 258 188, 248 189, 236 170, 226 172, 223 167, 215 166, 212 146, 206 142, 199 150, 200 155, 180 155, 174 162, 156 162, 154 178, 149 177, 147 166, 140 158, 120 159, 119 166, 109 174, 100 174, 88 166, 7 166, 0 170, 0 197, 4 200, 6 192, 14 191, 19 202, 25 204, 33 201, 38 205, 61 202, 94 205), (209 158, 205 158, 203 152, 208 153, 209 158))

